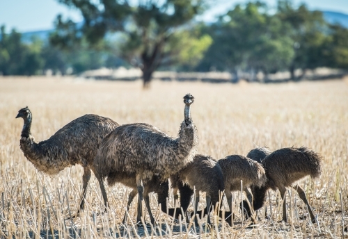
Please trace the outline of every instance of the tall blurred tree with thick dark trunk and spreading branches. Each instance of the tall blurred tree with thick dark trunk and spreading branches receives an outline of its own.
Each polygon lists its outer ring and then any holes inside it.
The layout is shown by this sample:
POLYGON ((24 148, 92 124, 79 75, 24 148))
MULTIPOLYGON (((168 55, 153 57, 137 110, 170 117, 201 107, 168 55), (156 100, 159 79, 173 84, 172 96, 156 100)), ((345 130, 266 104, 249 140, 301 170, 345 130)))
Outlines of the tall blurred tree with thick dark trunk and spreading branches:
POLYGON ((127 0, 58 1, 81 11, 84 23, 77 26, 71 20, 64 21, 58 16, 52 43, 61 47, 72 46, 86 37, 88 42, 95 44, 106 33, 125 33, 122 56, 141 68, 145 88, 164 57, 170 55, 171 52, 166 51, 164 56, 164 49, 175 30, 205 8, 205 0, 148 0, 139 1, 137 6, 132 6, 127 0))

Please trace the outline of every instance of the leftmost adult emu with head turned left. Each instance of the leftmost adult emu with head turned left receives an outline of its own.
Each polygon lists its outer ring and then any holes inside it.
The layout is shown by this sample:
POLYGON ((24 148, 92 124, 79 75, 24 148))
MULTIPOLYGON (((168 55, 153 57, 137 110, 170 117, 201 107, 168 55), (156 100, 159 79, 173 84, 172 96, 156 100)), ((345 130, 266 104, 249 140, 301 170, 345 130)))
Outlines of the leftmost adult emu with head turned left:
MULTIPOLYGON (((90 167, 97 154, 97 149, 104 136, 116 129, 118 123, 99 115, 84 115, 63 126, 48 140, 37 143, 31 135, 33 115, 28 106, 18 111, 16 118, 19 117, 24 119, 19 145, 24 156, 33 163, 35 168, 46 174, 54 175, 72 165, 79 164, 84 167, 79 211, 83 210, 91 175, 90 167)), ((77 211, 77 215, 79 215, 79 211, 77 211)))

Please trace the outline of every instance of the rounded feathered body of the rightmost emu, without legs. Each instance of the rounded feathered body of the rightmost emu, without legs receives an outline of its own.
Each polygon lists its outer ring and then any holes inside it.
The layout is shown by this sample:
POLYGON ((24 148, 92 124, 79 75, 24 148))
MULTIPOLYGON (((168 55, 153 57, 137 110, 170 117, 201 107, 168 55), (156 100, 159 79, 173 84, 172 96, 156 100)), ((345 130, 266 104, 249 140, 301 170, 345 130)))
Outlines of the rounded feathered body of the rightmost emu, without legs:
POLYGON ((305 176, 317 178, 322 172, 322 157, 306 147, 283 148, 262 160, 266 170, 267 184, 273 190, 278 186, 289 187, 305 176))

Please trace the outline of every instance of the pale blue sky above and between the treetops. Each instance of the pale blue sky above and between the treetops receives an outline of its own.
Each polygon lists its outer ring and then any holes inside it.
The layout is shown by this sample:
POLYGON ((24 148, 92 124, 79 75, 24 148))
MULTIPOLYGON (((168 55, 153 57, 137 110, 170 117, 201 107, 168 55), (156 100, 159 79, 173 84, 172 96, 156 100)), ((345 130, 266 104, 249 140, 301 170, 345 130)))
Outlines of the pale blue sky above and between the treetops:
MULTIPOLYGON (((245 0, 215 0, 214 6, 209 8, 199 19, 213 22, 216 15, 226 13, 237 3, 245 0)), ((275 8, 276 0, 264 0, 268 6, 275 8)), ((294 4, 306 3, 311 10, 331 10, 348 15, 348 0, 293 0, 294 4)), ((0 0, 0 26, 5 24, 7 31, 16 28, 19 32, 40 31, 52 29, 56 15, 62 14, 76 22, 82 17, 77 10, 68 9, 56 0, 0 0)))

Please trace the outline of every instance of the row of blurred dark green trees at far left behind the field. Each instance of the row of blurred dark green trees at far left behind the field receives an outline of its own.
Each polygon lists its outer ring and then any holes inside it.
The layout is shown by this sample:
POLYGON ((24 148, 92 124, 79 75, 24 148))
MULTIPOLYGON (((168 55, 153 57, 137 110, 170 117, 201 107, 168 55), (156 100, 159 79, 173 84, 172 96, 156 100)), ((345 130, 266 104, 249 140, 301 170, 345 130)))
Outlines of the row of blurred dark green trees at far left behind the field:
POLYGON ((47 69, 54 74, 66 74, 67 69, 79 74, 88 69, 103 66, 116 67, 125 65, 124 61, 114 56, 113 44, 100 41, 94 48, 84 38, 73 48, 54 47, 49 42, 33 38, 30 43, 21 41, 21 34, 11 31, 6 34, 5 26, 0 35, 0 74, 3 75, 35 75, 47 69))

